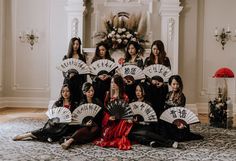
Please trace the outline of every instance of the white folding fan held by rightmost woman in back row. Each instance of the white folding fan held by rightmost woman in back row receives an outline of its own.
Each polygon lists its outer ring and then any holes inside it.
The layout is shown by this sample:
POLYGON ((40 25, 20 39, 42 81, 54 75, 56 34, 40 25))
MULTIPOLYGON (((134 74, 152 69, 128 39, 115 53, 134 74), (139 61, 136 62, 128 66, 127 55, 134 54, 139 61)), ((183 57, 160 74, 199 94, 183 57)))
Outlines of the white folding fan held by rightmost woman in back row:
POLYGON ((143 70, 143 72, 149 78, 152 78, 154 76, 160 76, 163 78, 164 82, 168 82, 170 76, 172 75, 171 70, 168 67, 161 64, 150 65, 146 67, 143 70))

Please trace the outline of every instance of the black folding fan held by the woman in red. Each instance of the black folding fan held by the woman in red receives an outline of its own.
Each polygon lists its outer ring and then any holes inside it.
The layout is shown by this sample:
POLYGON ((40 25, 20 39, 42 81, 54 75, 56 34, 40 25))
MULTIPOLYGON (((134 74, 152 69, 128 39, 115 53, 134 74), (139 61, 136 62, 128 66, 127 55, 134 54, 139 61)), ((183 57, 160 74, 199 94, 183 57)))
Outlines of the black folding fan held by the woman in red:
POLYGON ((107 110, 111 116, 115 116, 116 119, 132 119, 133 112, 127 102, 118 99, 111 101, 107 105, 107 110))

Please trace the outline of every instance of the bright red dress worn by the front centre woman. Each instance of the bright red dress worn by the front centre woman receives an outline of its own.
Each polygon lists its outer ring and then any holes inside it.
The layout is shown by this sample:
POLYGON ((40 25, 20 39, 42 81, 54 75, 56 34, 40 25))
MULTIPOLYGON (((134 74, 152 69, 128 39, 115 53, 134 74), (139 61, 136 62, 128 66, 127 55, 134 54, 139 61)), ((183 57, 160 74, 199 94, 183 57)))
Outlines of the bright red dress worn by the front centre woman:
MULTIPOLYGON (((116 98, 111 98, 114 100, 116 98)), ((128 102, 128 96, 124 94, 123 99, 128 102)), ((105 112, 102 120, 102 136, 94 143, 102 147, 116 147, 120 150, 131 149, 131 143, 128 139, 128 134, 133 126, 127 120, 109 120, 110 115, 105 112)))

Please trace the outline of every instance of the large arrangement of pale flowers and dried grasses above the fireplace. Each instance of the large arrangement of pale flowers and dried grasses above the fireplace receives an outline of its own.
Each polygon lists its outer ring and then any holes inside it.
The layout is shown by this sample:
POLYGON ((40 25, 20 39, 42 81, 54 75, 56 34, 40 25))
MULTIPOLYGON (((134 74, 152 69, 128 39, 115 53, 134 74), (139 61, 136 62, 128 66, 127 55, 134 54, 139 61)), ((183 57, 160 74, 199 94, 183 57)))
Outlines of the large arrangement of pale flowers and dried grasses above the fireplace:
POLYGON ((110 15, 104 20, 105 31, 97 32, 94 37, 104 41, 112 49, 124 49, 129 41, 136 41, 140 44, 141 50, 148 40, 146 39, 147 22, 145 16, 129 15, 126 12, 119 12, 117 15, 110 15))

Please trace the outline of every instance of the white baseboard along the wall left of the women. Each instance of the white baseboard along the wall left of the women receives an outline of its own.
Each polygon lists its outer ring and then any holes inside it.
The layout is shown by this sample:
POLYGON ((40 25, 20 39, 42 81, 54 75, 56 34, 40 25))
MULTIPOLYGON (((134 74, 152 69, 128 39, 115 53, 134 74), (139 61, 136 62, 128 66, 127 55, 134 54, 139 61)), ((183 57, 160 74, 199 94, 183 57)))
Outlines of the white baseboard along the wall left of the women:
POLYGON ((0 108, 4 107, 33 107, 47 108, 49 99, 40 97, 1 97, 0 108))

